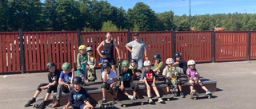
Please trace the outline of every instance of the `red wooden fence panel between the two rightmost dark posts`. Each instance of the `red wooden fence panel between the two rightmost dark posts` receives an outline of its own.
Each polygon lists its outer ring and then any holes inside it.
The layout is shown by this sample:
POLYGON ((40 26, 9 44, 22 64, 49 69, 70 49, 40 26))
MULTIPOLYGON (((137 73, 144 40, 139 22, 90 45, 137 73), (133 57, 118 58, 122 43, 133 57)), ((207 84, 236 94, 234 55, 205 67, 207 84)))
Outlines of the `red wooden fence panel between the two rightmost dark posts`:
POLYGON ((246 60, 247 33, 246 31, 216 32, 215 61, 246 60))

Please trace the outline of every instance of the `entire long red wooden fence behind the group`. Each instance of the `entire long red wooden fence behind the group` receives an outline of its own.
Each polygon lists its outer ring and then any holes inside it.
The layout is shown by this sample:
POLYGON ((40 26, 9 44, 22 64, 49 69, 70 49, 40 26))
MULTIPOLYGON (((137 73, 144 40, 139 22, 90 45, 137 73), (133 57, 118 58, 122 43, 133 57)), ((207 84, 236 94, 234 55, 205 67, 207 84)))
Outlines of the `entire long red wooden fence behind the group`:
MULTIPOLYGON (((182 53, 185 60, 197 62, 212 61, 212 31, 199 32, 138 32, 140 39, 146 43, 146 52, 154 63, 153 55, 161 54, 162 60, 173 57, 172 45, 176 51, 182 53), (172 44, 172 35, 175 35, 175 44, 172 44)), ((99 55, 97 46, 105 40, 106 33, 80 33, 82 45, 91 46, 97 60, 99 55)), ((250 32, 250 49, 248 48, 248 31, 224 31, 215 32, 215 56, 214 61, 247 60, 248 50, 250 59, 256 59, 256 31, 250 32)), ((133 41, 133 33, 113 32, 112 40, 116 41, 122 59, 130 59, 125 45, 129 40, 133 41)), ((26 72, 46 70, 46 63, 54 61, 57 68, 62 63, 70 62, 72 68, 76 68, 76 56, 78 54, 78 32, 24 32, 24 53, 26 72)), ((0 33, 0 72, 21 72, 21 56, 19 33, 0 33)), ((115 58, 117 53, 114 50, 115 58)))

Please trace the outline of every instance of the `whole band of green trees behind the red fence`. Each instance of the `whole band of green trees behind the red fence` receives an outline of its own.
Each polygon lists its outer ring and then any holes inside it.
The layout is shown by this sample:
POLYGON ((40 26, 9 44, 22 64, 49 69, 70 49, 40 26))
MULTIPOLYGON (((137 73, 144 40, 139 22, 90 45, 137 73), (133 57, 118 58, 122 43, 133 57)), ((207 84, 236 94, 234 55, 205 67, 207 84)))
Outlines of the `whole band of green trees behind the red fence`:
POLYGON ((0 31, 162 31, 176 29, 256 29, 256 14, 205 14, 174 16, 173 11, 155 13, 143 2, 133 8, 111 6, 98 0, 0 0, 0 31))

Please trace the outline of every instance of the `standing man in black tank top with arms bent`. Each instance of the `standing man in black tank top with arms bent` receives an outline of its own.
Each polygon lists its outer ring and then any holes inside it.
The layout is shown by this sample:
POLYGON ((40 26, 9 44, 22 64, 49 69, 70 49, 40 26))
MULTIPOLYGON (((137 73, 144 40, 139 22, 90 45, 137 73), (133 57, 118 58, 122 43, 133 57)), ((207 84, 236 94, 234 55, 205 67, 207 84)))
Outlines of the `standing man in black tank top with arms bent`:
POLYGON ((113 40, 111 40, 111 37, 112 37, 112 34, 110 32, 106 33, 106 40, 102 41, 102 43, 98 45, 97 52, 100 56, 102 56, 99 50, 102 46, 103 46, 103 49, 106 49, 108 51, 107 57, 109 57, 111 60, 111 68, 115 72, 115 74, 117 74, 117 70, 115 68, 116 61, 114 60, 114 48, 117 50, 118 60, 120 60, 121 58, 120 58, 118 45, 113 40))

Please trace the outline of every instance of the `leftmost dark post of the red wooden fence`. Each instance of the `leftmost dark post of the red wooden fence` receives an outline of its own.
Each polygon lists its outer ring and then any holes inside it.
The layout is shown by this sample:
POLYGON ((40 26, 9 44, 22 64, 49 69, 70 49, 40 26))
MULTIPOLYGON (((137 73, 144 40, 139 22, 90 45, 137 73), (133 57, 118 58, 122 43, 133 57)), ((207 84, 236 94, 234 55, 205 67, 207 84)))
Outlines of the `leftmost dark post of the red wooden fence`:
POLYGON ((24 39, 23 39, 23 32, 22 29, 18 29, 18 37, 19 37, 19 47, 20 47, 20 62, 22 68, 22 74, 25 72, 25 54, 24 54, 24 39))

